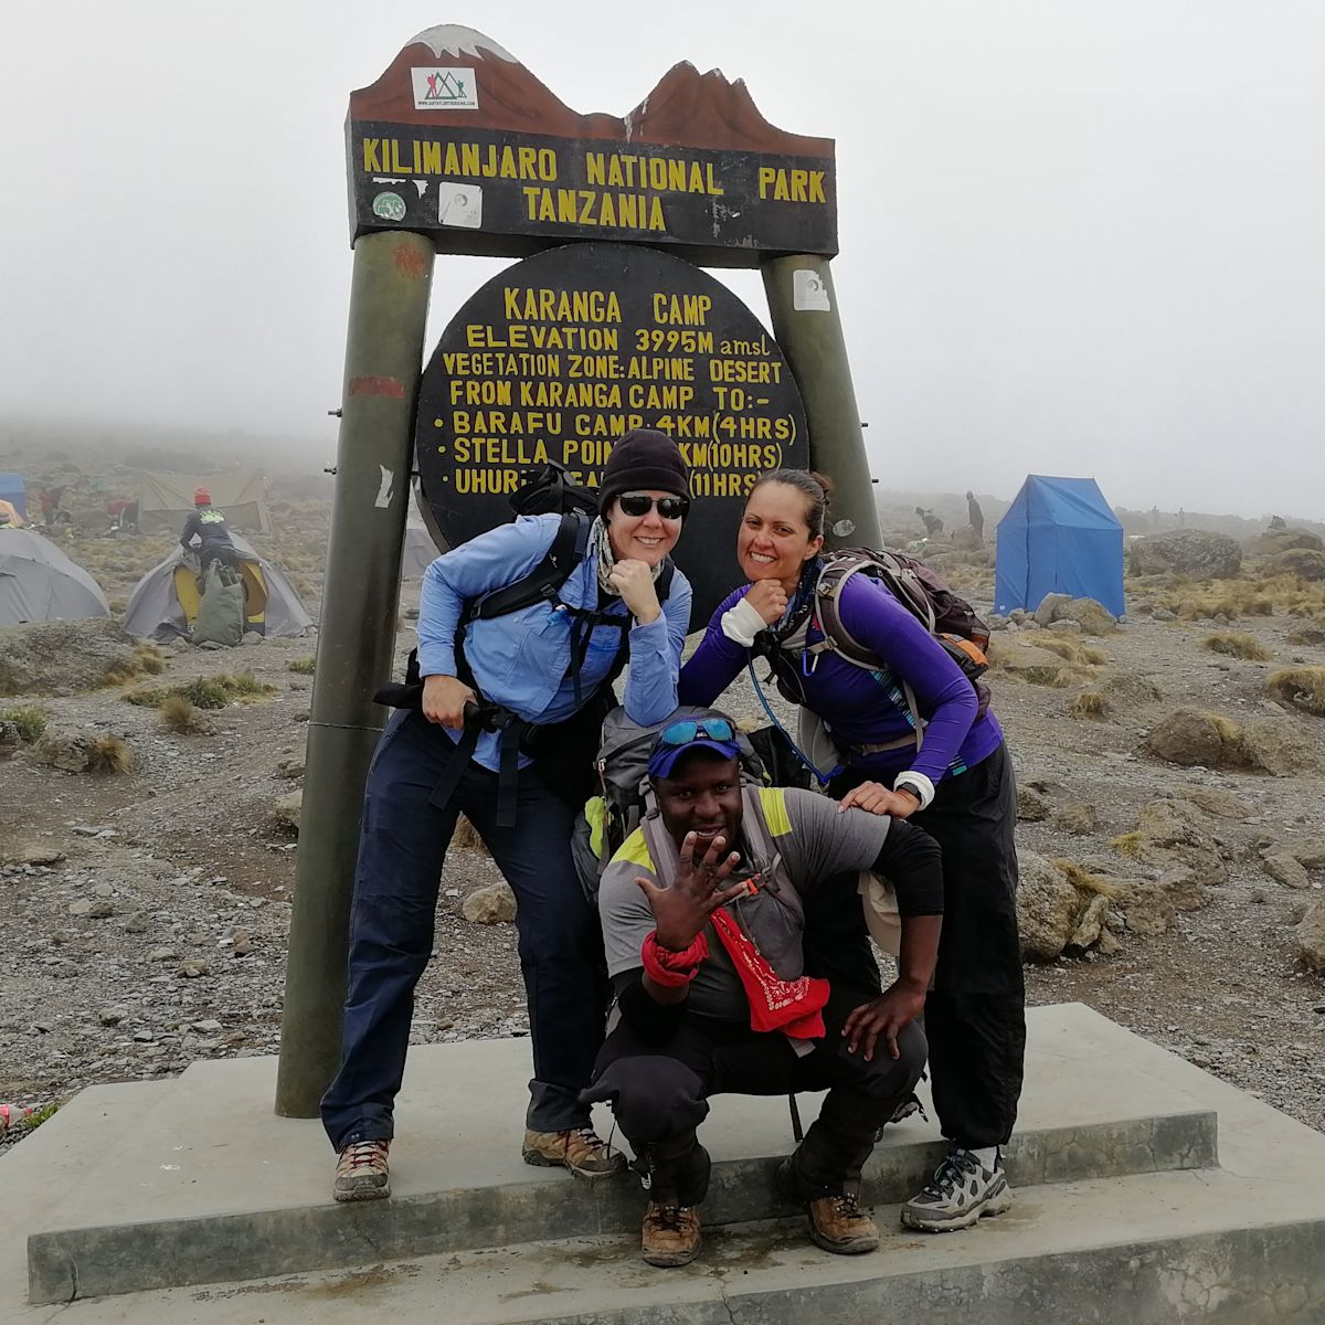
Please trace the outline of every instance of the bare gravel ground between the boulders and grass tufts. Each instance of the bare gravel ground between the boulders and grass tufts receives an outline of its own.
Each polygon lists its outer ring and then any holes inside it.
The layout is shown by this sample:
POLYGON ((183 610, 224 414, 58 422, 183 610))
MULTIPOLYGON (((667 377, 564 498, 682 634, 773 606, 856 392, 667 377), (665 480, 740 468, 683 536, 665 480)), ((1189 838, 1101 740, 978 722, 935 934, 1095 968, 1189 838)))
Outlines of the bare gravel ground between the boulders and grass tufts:
MULTIPOLYGON (((404 607, 416 595, 407 586, 404 607)), ((1271 617, 1249 628, 1275 662, 1325 662, 1321 648, 1288 643, 1293 624, 1271 617)), ((401 625, 403 655, 412 636, 401 625)), ((1089 1003, 1320 1129, 1325 982, 1297 965, 1291 925, 1325 880, 1288 889, 1263 871, 1260 848, 1314 840, 1321 776, 1177 768, 1141 753, 1149 726, 1183 702, 1283 717, 1264 692, 1275 662, 1215 659, 1200 648, 1208 633, 1208 624, 1142 619, 1092 640, 1108 659, 1101 677, 1146 677, 1162 694, 1120 705, 1108 721, 1069 717, 1069 692, 995 681, 1019 779, 1047 811, 1022 824, 1024 849, 1102 861, 1143 806, 1192 788, 1230 792, 1246 810, 1211 820, 1223 865, 1212 874, 1227 872, 1227 881, 1212 884, 1204 909, 1158 937, 1125 935, 1114 955, 1030 966, 1028 996, 1089 1003), (1094 827, 1063 827, 1060 812, 1083 803, 1094 827)), ((0 1101, 36 1105, 93 1083, 170 1076, 199 1057, 276 1051, 295 837, 274 802, 299 786, 310 678, 288 665, 313 647, 277 640, 170 655, 150 684, 252 670, 276 686, 220 710, 209 735, 166 733, 155 710, 114 689, 36 701, 54 725, 121 735, 135 763, 125 776, 60 772, 28 753, 0 765, 0 859, 11 860, 0 865, 0 1101), (21 863, 42 853, 58 859, 21 863)), ((730 701, 738 716, 757 712, 743 688, 730 701)), ((1325 758, 1325 722, 1293 721, 1325 758)), ((450 853, 416 1043, 527 1034, 514 928, 460 914, 464 898, 496 878, 481 852, 450 853)))

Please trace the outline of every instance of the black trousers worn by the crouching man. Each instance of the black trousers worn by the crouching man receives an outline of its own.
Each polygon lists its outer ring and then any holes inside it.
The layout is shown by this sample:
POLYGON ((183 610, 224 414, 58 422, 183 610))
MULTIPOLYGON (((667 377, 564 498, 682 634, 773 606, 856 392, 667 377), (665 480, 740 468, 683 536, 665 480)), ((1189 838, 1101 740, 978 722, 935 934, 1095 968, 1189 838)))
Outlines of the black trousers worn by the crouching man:
POLYGON ((865 994, 833 992, 824 1008, 827 1035, 798 1057, 782 1034, 686 1016, 659 1047, 623 1020, 608 1035, 580 1098, 610 1101, 617 1126, 649 1174, 655 1200, 698 1204, 708 1191, 709 1157, 696 1129, 714 1094, 828 1096, 796 1150, 792 1171, 804 1199, 855 1191, 874 1136, 910 1094, 925 1065, 925 1032, 912 1022, 897 1037, 900 1057, 878 1044, 871 1061, 848 1053, 841 1036, 847 1014, 865 994))

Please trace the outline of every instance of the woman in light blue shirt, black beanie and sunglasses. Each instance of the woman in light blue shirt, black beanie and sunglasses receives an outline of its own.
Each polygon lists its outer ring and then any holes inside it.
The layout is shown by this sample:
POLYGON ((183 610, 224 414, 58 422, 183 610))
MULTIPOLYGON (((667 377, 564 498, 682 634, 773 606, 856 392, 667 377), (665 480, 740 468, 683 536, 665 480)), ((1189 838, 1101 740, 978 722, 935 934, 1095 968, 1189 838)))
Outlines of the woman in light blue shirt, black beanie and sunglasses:
POLYGON ((688 507, 689 474, 676 443, 647 429, 628 433, 608 458, 599 518, 558 602, 469 620, 458 657, 466 604, 539 566, 560 517, 517 519, 428 567, 419 610, 421 712, 401 710, 387 723, 364 796, 342 1065, 322 1100, 339 1157, 335 1199, 390 1194, 387 1151, 413 990, 432 953, 441 867, 460 814, 517 900, 534 1051, 523 1157, 583 1178, 624 1166, 594 1134, 588 1106, 579 1102, 603 1040, 607 982, 598 917, 571 859, 575 807, 527 755, 518 755, 515 775, 517 751, 504 749, 500 733, 484 731, 477 743, 468 733, 465 741, 465 708, 500 705, 535 727, 564 722, 615 674, 624 629, 625 710, 636 722, 661 722, 677 704, 690 586, 673 570, 660 602, 655 584, 688 507), (468 759, 457 749, 462 741, 473 750, 468 759))

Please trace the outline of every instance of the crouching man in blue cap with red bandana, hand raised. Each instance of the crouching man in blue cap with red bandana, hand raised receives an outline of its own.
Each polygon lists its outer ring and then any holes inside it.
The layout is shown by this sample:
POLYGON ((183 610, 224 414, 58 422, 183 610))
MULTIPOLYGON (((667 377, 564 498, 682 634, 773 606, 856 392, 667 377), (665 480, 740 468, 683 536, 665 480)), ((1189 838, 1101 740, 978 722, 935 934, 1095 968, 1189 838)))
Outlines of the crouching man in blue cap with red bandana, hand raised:
POLYGON ((710 1096, 828 1090, 778 1170, 825 1251, 873 1251, 860 1171, 925 1064, 925 1006, 942 922, 937 844, 902 820, 825 796, 742 786, 722 717, 676 722, 649 761, 641 827, 603 874, 599 914, 615 1026, 582 1098, 611 1101, 649 1192, 644 1259, 700 1251, 710 1096), (892 880, 900 975, 882 995, 803 974, 803 898, 843 871, 892 880))

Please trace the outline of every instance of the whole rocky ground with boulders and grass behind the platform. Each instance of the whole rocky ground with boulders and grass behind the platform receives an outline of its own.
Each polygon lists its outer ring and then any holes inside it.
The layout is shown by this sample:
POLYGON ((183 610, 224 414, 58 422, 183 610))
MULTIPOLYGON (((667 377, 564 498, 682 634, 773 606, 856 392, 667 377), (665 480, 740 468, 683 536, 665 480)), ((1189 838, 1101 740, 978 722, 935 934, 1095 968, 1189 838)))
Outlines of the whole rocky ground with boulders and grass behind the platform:
MULTIPOLYGON (((126 591, 131 570, 107 591, 126 591)), ((302 574, 314 607, 318 575, 302 574)), ((971 590, 987 582, 978 563, 970 575, 971 590)), ((1142 606, 1167 600, 1154 583, 1136 588, 1142 606)), ((405 611, 416 594, 405 587, 405 611)), ((1325 719, 1265 684, 1276 668, 1325 664, 1325 635, 1283 612, 1234 628, 1268 657, 1211 652, 1211 620, 1143 613, 1102 636, 1075 623, 996 636, 994 706, 1022 786, 1026 920, 1041 958, 1027 966, 1030 999, 1086 1002, 1325 1128, 1325 979, 1295 929, 1325 884, 1325 719), (1147 742, 1181 709, 1219 716, 1228 750, 1260 750, 1277 775, 1246 754, 1227 768, 1159 758, 1147 742)), ((403 617, 401 653, 411 643, 403 617)), ((93 774, 52 767, 30 743, 0 757, 0 1101, 276 1051, 297 853, 280 806, 299 787, 311 685, 292 664, 314 649, 166 651, 160 674, 68 694, 49 693, 54 680, 0 701, 40 706, 56 734, 117 737, 132 759, 93 774), (199 734, 122 698, 217 672, 272 690, 211 713, 199 734)), ((755 712, 749 694, 731 706, 755 712)), ((416 1041, 526 1034, 514 928, 462 917, 496 881, 480 851, 452 852, 416 1041)))

